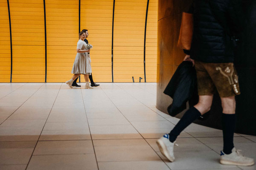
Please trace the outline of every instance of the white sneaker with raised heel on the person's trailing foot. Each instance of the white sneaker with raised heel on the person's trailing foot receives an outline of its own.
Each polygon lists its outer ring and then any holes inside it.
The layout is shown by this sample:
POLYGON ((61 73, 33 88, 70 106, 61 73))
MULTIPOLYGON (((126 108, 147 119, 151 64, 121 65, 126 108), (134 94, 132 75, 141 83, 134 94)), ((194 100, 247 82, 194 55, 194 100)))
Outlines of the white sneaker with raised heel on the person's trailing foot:
POLYGON ((164 136, 157 140, 157 146, 159 147, 160 152, 171 162, 173 162, 175 159, 173 154, 173 147, 174 145, 178 146, 177 144, 175 144, 175 142, 176 141, 172 143, 169 141, 168 134, 165 134, 164 136))

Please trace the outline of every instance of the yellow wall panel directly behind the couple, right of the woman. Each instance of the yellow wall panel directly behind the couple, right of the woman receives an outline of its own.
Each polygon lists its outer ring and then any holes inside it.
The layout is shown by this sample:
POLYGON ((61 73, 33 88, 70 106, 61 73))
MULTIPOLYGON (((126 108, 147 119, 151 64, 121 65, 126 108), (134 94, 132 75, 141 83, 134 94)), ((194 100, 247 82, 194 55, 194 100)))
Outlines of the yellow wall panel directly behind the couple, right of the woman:
MULTIPOLYGON (((112 82, 111 46, 113 0, 81 0, 81 30, 87 29, 95 82, 112 82)), ((81 82, 84 78, 81 77, 81 82)))

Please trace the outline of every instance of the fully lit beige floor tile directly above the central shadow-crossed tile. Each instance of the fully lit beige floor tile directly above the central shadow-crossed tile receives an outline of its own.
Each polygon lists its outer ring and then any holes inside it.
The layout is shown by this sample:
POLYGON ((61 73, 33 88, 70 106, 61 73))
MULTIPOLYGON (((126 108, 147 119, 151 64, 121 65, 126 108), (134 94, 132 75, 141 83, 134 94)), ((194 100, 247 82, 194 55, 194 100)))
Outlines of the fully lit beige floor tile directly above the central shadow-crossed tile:
POLYGON ((90 126, 97 126, 97 125, 131 125, 124 116, 111 119, 88 119, 90 126))

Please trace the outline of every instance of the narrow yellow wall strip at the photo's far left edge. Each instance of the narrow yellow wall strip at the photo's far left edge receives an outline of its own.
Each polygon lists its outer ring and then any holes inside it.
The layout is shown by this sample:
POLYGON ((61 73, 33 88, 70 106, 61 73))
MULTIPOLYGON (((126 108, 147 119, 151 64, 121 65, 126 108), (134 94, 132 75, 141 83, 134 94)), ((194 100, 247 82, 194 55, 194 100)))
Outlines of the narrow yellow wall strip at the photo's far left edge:
POLYGON ((10 82, 11 46, 8 5, 0 0, 0 82, 10 82))

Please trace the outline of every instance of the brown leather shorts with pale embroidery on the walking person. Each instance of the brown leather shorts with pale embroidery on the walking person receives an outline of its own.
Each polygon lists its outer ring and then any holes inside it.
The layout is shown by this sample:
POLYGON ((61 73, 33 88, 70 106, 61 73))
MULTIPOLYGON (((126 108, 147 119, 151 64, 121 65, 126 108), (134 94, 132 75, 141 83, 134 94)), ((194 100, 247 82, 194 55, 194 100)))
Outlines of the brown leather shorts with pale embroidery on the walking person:
POLYGON ((198 95, 211 95, 218 91, 221 97, 240 94, 238 75, 233 63, 204 63, 195 61, 198 95))

